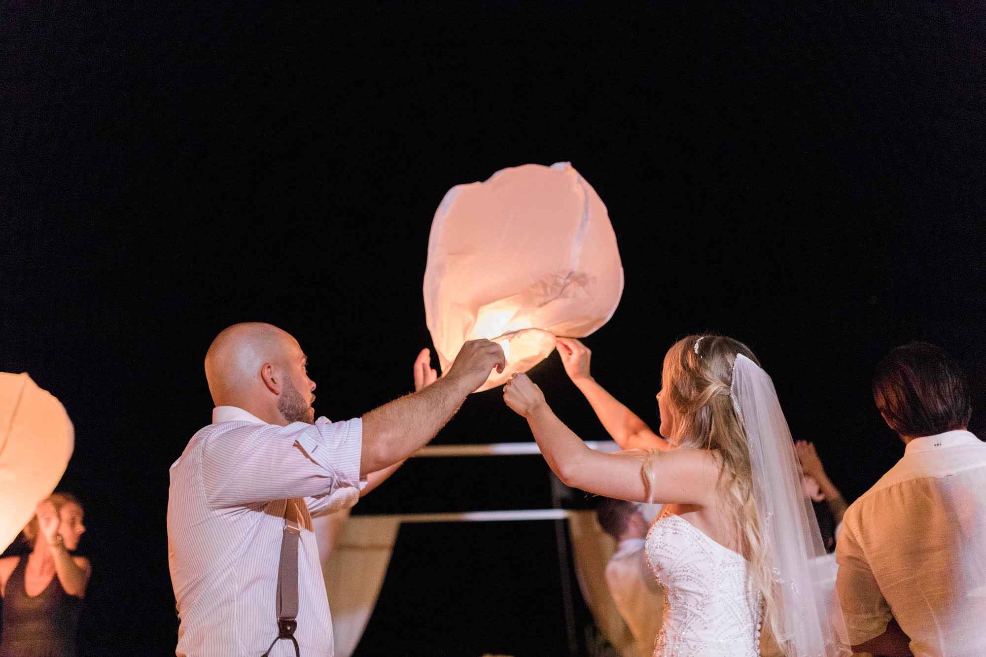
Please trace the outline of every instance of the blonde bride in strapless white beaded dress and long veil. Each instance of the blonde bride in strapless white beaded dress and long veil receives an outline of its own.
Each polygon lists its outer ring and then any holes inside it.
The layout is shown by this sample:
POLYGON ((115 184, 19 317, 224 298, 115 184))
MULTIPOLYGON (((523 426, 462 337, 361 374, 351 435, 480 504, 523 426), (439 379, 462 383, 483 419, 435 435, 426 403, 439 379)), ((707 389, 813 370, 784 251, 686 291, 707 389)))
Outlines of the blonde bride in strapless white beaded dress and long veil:
POLYGON ((700 334, 671 346, 658 394, 668 450, 590 449, 524 374, 504 401, 567 485, 665 504, 646 543, 668 595, 654 655, 755 656, 763 629, 788 657, 848 654, 812 574, 824 549, 787 422, 742 342, 700 334))

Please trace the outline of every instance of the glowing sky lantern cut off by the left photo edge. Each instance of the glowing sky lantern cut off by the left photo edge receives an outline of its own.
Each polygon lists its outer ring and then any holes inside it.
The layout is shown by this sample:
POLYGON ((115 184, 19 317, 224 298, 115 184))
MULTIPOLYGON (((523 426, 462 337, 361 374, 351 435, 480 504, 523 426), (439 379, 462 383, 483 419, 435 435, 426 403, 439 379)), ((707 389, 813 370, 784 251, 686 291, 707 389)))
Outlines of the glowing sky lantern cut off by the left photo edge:
POLYGON ((58 485, 74 445, 60 401, 27 374, 0 372, 0 551, 58 485))

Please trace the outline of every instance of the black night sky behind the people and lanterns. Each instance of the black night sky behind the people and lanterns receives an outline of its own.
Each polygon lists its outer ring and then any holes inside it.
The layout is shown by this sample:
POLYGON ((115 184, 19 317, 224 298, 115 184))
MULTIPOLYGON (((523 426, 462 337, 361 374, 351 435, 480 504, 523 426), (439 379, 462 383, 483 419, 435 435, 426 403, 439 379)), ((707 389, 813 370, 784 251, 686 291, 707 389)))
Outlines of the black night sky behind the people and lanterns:
MULTIPOLYGON (((849 498, 903 452, 869 393, 891 346, 951 351, 983 426, 982 19, 945 2, 10 3, 0 370, 75 422, 60 487, 87 512, 87 654, 174 651, 168 468, 209 422, 212 337, 291 331, 332 418, 407 392, 435 208, 504 167, 571 161, 606 203, 626 289, 586 342, 648 421, 671 342, 714 329, 757 353, 849 498)), ((605 437, 556 355, 532 377, 605 437)), ((489 392, 436 442, 529 439, 489 392)), ((537 457, 441 459, 356 512, 549 505, 537 457)), ((554 554, 551 523, 405 526, 359 654, 564 652, 554 554)))

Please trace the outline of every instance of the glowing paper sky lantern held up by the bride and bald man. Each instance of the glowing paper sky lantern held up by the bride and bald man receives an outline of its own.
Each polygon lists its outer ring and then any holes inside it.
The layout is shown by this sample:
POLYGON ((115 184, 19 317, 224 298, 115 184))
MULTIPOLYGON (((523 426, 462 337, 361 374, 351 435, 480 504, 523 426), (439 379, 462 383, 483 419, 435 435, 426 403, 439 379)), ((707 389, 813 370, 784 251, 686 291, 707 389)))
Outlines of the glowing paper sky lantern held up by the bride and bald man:
POLYGON ((425 317, 443 372, 466 340, 503 345, 507 368, 481 391, 540 362, 555 335, 583 337, 604 325, 622 292, 606 207, 567 162, 458 184, 435 212, 425 317))

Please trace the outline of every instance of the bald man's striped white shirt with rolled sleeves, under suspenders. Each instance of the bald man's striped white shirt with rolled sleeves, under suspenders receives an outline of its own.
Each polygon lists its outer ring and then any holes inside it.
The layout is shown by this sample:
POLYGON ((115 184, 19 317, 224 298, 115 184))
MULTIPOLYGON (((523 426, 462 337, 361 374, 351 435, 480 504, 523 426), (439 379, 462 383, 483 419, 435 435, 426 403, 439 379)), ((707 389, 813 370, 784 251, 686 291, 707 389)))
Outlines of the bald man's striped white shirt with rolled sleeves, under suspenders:
MULTIPOLYGON (((176 655, 258 657, 277 636, 277 569, 289 508, 298 550, 303 657, 332 657, 332 623, 312 516, 352 506, 363 422, 267 424, 218 406, 171 468, 168 562, 178 618, 176 655), (290 505, 290 507, 289 507, 290 505)), ((271 657, 294 655, 278 641, 271 657)))

